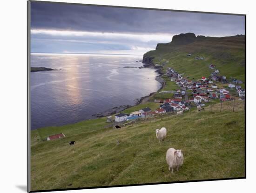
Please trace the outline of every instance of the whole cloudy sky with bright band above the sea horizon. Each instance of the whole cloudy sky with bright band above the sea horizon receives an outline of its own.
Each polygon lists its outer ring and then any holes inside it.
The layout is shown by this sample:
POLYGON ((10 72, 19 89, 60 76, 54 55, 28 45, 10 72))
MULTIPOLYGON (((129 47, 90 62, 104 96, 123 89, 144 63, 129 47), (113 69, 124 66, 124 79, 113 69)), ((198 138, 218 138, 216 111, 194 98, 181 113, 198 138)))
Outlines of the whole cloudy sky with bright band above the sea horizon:
POLYGON ((244 34, 244 16, 31 2, 32 53, 142 55, 188 32, 244 34))

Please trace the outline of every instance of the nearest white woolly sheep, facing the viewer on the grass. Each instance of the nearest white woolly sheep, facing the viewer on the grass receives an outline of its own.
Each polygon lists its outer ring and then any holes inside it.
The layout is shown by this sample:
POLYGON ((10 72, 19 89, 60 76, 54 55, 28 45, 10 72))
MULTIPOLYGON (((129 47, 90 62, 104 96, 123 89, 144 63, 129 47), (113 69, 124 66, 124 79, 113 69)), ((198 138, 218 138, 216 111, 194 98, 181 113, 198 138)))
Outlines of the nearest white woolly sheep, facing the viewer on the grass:
POLYGON ((176 168, 179 171, 179 167, 183 164, 183 153, 182 150, 175 150, 174 148, 169 148, 166 152, 166 162, 168 164, 168 170, 173 170, 176 168))

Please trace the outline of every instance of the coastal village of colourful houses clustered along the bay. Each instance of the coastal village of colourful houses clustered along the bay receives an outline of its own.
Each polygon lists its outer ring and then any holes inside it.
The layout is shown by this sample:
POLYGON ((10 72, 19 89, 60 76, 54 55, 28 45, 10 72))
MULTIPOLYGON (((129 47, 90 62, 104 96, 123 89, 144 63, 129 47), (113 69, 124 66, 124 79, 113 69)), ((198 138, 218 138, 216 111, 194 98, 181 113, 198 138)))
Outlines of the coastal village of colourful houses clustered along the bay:
MULTIPOLYGON (((191 53, 187 56, 191 56, 191 53)), ((204 58, 196 56, 195 60, 204 60, 204 58)), ((154 102, 160 104, 156 109, 145 107, 129 114, 116 114, 115 123, 152 118, 159 114, 182 114, 189 111, 191 107, 196 107, 198 111, 201 111, 211 101, 244 100, 245 90, 239 85, 243 84, 241 80, 232 77, 227 79, 225 75, 220 75, 220 71, 214 64, 209 64, 209 69, 212 73, 208 78, 202 76, 200 80, 189 80, 189 77, 183 77, 183 73, 178 73, 174 68, 168 67, 164 75, 169 81, 175 82, 179 89, 159 93, 173 93, 173 97, 165 100, 155 99, 154 102)), ((107 122, 113 121, 112 116, 107 117, 107 122)))

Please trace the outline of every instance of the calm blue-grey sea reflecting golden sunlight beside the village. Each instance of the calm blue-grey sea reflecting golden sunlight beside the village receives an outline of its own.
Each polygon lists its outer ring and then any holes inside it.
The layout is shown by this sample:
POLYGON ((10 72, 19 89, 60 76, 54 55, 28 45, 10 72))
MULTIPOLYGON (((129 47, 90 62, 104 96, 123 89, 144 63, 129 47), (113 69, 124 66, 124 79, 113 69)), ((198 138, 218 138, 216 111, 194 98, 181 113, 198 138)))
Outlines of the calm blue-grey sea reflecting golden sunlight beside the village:
POLYGON ((31 129, 94 119, 115 106, 135 105, 157 91, 158 73, 141 67, 142 56, 31 54, 32 67, 61 71, 30 73, 31 129))

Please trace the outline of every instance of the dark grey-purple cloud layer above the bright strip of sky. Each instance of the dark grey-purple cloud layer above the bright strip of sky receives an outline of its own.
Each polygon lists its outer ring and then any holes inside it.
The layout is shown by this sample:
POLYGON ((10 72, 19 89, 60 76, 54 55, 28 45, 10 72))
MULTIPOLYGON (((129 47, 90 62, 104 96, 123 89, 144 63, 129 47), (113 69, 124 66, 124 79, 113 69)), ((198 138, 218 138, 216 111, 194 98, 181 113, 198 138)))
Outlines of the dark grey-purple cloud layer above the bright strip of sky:
POLYGON ((32 2, 31 27, 225 36, 244 34, 244 16, 32 2))

